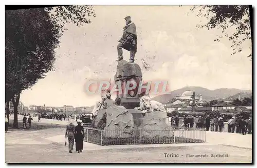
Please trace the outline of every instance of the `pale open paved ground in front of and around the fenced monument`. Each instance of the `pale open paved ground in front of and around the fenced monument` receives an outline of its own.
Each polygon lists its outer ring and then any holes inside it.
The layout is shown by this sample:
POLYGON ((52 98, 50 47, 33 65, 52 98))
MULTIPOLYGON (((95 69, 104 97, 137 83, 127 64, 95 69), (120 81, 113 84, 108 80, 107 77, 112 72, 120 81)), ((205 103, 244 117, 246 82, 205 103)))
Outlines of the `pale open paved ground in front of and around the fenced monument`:
MULTIPOLYGON (((43 122, 52 123, 56 121, 42 119, 42 123, 34 122, 33 124, 43 124, 43 122)), ((52 127, 52 125, 49 124, 49 127, 52 127)), ((241 149, 220 144, 222 140, 225 140, 224 143, 227 143, 228 140, 235 141, 234 143, 245 140, 250 141, 251 135, 243 136, 238 134, 232 135, 230 133, 207 132, 206 136, 209 142, 194 144, 100 146, 84 142, 83 153, 69 154, 67 146, 64 145, 64 133, 65 128, 52 128, 37 131, 13 130, 8 132, 6 134, 6 162, 250 163, 252 161, 251 149, 241 149), (171 154, 173 157, 165 157, 165 153, 171 154), (187 157, 187 154, 191 157, 187 157), (220 154, 220 156, 213 157, 217 154, 220 154), (205 157, 192 157, 193 155, 204 155, 205 157), (222 157, 223 155, 228 157, 222 157)))

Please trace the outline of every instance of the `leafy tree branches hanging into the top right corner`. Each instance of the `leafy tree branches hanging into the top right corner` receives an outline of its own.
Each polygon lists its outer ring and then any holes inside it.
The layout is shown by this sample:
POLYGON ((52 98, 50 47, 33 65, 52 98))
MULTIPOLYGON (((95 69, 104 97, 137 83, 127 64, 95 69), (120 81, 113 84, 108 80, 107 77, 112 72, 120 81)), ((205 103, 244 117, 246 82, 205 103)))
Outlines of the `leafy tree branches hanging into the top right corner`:
MULTIPOLYGON (((231 48, 233 52, 243 51, 243 44, 251 40, 250 29, 250 9, 246 5, 200 5, 190 9, 191 12, 197 12, 198 17, 206 17, 206 24, 197 25, 198 28, 222 30, 223 35, 217 35, 214 41, 219 41, 223 37, 227 37, 232 41, 231 48), (235 31, 230 34, 228 28, 234 27, 235 31)), ((251 49, 251 46, 249 47, 251 49)), ((251 51, 248 57, 252 57, 251 51)))

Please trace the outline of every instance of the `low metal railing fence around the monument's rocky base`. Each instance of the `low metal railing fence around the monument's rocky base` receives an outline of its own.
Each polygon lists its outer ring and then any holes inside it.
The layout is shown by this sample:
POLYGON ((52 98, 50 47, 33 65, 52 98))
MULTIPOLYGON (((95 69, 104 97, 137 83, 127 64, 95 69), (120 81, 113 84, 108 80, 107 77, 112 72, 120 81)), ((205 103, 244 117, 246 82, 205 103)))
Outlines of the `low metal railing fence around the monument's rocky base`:
POLYGON ((85 128, 84 141, 99 145, 199 143, 206 141, 205 130, 97 130, 85 128))

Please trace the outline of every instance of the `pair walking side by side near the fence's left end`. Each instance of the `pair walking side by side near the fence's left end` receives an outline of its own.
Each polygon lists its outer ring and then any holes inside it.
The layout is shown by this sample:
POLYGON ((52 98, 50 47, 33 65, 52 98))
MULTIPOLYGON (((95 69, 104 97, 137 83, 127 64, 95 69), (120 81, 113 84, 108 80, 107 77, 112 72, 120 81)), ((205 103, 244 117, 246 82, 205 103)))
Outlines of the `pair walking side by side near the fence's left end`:
POLYGON ((84 128, 81 125, 82 120, 77 119, 78 125, 75 127, 74 121, 69 120, 69 124, 66 127, 65 138, 68 137, 69 153, 72 153, 74 140, 76 142, 76 152, 80 153, 83 150, 83 139, 85 137, 84 128))

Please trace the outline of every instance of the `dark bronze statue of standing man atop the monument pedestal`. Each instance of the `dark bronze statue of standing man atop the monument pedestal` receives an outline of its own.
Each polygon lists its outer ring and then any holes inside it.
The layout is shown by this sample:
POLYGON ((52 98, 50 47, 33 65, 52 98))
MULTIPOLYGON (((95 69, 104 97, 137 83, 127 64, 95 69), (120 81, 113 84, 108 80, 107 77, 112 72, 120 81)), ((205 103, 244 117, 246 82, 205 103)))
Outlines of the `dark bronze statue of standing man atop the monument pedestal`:
POLYGON ((134 57, 137 52, 137 31, 136 25, 131 22, 131 17, 126 16, 126 26, 123 28, 123 35, 118 42, 120 42, 117 46, 118 50, 118 60, 123 60, 123 52, 122 48, 130 51, 130 62, 134 62, 134 57))

